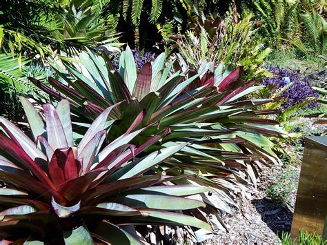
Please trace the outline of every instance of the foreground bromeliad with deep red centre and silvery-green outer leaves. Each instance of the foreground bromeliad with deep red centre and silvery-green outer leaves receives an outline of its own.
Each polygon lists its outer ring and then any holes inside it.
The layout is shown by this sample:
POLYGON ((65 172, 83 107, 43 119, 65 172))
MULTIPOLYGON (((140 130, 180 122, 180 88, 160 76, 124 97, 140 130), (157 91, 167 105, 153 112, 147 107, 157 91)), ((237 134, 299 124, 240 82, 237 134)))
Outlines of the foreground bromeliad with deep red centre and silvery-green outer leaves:
POLYGON ((204 206, 184 197, 208 188, 167 185, 181 176, 143 175, 187 145, 161 148, 139 157, 169 129, 138 146, 129 142, 145 128, 132 133, 128 130, 107 144, 106 135, 113 123, 107 117, 119 106, 115 104, 101 112, 76 144, 67 100, 56 108, 43 106, 45 124, 27 99, 21 98, 21 102, 33 139, 0 117, 2 239, 46 244, 142 244, 135 230, 131 232, 133 225, 190 225, 210 231, 205 222, 177 213, 204 206))

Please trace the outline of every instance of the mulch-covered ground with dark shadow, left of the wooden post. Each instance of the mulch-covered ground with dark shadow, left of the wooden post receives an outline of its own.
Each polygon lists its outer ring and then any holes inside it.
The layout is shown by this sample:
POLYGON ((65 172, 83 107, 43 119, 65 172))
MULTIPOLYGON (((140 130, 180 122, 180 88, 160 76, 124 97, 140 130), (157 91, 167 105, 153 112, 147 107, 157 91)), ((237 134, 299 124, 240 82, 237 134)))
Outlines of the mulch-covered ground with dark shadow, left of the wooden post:
MULTIPOLYGON (((298 182, 300 166, 288 166, 296 173, 298 182)), ((277 204, 267 196, 267 188, 275 184, 274 176, 284 173, 284 167, 264 167, 258 192, 252 200, 241 202, 234 215, 224 215, 228 231, 216 230, 216 235, 206 244, 275 244, 283 232, 289 232, 293 219, 297 189, 288 195, 288 204, 277 204)))

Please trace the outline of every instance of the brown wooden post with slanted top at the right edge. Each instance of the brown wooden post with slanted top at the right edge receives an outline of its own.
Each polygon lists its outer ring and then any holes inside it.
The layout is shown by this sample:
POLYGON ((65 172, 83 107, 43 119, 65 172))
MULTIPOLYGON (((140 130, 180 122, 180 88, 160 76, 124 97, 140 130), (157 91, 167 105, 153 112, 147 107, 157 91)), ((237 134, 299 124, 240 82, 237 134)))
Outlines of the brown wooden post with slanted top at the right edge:
POLYGON ((299 230, 327 237, 327 137, 306 137, 291 237, 299 230))

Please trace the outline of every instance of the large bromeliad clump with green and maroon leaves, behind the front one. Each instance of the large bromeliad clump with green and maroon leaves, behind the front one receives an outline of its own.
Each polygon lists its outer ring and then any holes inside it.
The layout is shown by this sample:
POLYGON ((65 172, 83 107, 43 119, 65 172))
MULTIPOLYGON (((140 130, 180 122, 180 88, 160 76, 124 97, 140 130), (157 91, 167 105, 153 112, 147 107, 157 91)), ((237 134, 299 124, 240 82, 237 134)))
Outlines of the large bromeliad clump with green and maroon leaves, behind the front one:
POLYGON ((218 66, 212 75, 206 67, 213 64, 204 63, 194 75, 187 69, 173 73, 172 68, 178 64, 164 66, 161 54, 137 73, 129 48, 121 55, 118 71, 106 55, 101 58, 93 52, 83 53, 80 61, 83 72, 67 64, 68 74, 58 72, 62 82, 49 79, 55 89, 36 79, 31 81, 54 99, 70 101, 79 133, 85 132, 85 122, 121 102, 109 115, 117 123, 112 125, 109 139, 146 127, 133 139, 143 144, 144 138, 169 127, 172 133, 153 148, 191 141, 192 145, 166 159, 156 170, 175 176, 199 176, 195 179, 198 184, 218 187, 219 200, 209 202, 210 197, 206 197, 207 203, 231 211, 228 204, 234 202, 226 193, 245 190, 249 182, 244 178, 255 182, 252 160, 276 162, 268 137, 281 137, 284 131, 275 126, 276 121, 261 118, 275 110, 255 109, 271 99, 246 99, 263 86, 241 81, 241 68, 223 72, 218 66))

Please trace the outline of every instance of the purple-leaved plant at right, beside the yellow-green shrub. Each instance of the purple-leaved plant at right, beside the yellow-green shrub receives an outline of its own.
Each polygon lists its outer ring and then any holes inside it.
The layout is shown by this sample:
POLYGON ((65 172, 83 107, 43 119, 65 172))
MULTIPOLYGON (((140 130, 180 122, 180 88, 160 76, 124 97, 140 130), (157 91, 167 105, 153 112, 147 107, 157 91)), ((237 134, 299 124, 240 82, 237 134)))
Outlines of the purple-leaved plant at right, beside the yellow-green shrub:
MULTIPOLYGON (((317 91, 302 79, 299 70, 290 70, 286 68, 271 67, 268 69, 273 73, 274 77, 266 78, 263 81, 264 85, 273 85, 275 89, 284 88, 291 84, 284 92, 281 93, 281 97, 285 98, 283 108, 290 108, 299 104, 301 101, 306 101, 308 97, 319 97, 317 91)), ((308 108, 314 108, 319 106, 317 102, 310 103, 308 108)))

